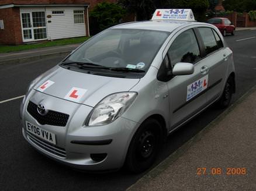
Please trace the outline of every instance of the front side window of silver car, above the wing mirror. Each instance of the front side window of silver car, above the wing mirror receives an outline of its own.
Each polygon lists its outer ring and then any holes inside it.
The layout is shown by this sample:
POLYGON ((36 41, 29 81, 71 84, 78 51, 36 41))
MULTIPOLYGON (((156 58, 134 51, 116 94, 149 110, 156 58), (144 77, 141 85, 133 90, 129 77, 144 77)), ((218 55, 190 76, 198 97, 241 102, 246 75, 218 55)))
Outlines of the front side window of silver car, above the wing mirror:
POLYGON ((178 62, 195 63, 200 59, 198 41, 192 29, 181 33, 168 50, 172 67, 178 62))

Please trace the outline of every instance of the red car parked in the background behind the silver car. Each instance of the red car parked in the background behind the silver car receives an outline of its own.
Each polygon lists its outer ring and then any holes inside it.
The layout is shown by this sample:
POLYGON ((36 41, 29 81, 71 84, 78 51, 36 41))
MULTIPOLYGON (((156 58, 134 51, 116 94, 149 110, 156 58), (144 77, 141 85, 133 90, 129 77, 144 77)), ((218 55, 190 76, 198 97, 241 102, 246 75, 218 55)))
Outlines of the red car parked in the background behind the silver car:
POLYGON ((224 37, 226 36, 227 33, 231 33, 232 35, 234 35, 236 31, 236 27, 227 18, 214 17, 212 19, 207 20, 207 23, 215 25, 220 30, 224 37))

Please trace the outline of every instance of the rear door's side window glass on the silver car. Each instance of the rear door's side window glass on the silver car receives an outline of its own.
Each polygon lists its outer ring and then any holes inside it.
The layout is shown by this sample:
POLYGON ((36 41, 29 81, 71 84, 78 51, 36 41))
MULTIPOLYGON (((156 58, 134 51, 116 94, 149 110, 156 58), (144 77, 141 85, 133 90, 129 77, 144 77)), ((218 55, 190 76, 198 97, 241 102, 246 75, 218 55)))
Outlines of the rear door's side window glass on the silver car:
POLYGON ((213 34, 212 29, 210 28, 198 28, 199 33, 202 36, 203 44, 205 45, 205 51, 206 54, 210 54, 211 52, 216 51, 216 49, 219 49, 219 46, 217 45, 217 42, 215 40, 215 35, 213 34))

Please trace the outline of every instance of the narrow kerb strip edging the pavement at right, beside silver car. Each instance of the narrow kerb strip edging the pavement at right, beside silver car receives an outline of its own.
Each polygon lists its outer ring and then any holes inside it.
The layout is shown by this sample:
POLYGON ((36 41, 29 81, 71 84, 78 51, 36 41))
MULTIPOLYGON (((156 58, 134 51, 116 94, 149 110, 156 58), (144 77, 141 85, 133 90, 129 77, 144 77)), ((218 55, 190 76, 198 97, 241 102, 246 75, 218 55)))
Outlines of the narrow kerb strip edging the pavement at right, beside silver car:
POLYGON ((229 108, 227 108, 222 114, 217 116, 215 120, 209 123, 205 128, 203 128, 198 134, 193 136, 188 142, 183 144, 181 147, 179 147, 174 153, 169 155, 164 161, 160 162, 156 167, 151 169, 146 175, 144 175, 142 178, 140 178, 136 183, 134 183, 132 186, 127 188, 127 191, 133 191, 140 188, 140 185, 144 184, 145 182, 150 182, 151 179, 157 177, 161 174, 161 172, 165 171, 169 165, 171 165, 173 162, 177 161, 179 157, 184 155, 186 151, 196 142, 198 142, 202 137, 209 132, 209 130, 213 129, 218 123, 220 123, 227 114, 229 114, 233 109, 235 109, 238 105, 241 104, 250 94, 254 93, 256 91, 256 85, 252 87, 250 90, 248 90, 244 95, 242 95, 236 102, 234 102, 232 105, 230 105, 229 108))

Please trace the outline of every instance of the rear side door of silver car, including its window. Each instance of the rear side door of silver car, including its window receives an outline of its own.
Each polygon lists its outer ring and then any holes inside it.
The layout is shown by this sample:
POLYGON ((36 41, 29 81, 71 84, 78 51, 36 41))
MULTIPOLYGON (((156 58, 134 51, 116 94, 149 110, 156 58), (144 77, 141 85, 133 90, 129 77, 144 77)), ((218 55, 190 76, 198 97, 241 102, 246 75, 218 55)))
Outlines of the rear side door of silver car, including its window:
POLYGON ((222 94, 230 51, 223 47, 223 42, 214 29, 199 27, 198 31, 205 48, 205 58, 202 62, 208 73, 207 103, 210 103, 222 94))

